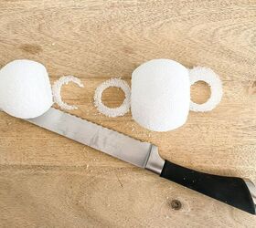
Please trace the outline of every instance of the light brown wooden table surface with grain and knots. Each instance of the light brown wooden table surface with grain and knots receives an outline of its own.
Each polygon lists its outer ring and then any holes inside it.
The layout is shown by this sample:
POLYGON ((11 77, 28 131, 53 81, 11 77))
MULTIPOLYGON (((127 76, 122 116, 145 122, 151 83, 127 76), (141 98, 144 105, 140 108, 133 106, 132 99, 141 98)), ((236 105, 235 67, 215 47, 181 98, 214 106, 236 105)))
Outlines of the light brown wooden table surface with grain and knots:
MULTIPOLYGON (((29 58, 62 90, 72 111, 159 146, 161 155, 199 171, 256 182, 256 2, 2 0, 0 65, 29 58), (153 58, 214 69, 223 81, 217 109, 190 112, 180 129, 144 130, 129 112, 107 118, 93 106, 108 78, 130 83, 153 58)), ((191 89, 198 102, 208 87, 191 89)), ((114 107, 123 94, 108 89, 114 107)), ((256 216, 158 178, 97 150, 0 113, 1 227, 255 227, 256 216), (173 201, 181 203, 174 209, 173 201)))

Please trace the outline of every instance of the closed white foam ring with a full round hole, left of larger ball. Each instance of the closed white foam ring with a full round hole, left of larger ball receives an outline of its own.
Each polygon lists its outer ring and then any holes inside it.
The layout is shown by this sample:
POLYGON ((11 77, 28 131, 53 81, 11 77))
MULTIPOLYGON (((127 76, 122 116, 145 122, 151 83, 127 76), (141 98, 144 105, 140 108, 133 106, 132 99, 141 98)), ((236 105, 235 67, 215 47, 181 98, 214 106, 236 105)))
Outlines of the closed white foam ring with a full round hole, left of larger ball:
POLYGON ((109 80, 106 80, 101 83, 101 85, 95 90, 94 105, 103 115, 107 117, 114 118, 123 116, 129 111, 131 106, 131 88, 129 87, 127 82, 121 78, 111 78, 109 80), (109 107, 106 107, 101 101, 102 92, 106 88, 110 87, 121 88, 124 92, 125 98, 123 100, 123 104, 118 108, 111 109, 109 107))

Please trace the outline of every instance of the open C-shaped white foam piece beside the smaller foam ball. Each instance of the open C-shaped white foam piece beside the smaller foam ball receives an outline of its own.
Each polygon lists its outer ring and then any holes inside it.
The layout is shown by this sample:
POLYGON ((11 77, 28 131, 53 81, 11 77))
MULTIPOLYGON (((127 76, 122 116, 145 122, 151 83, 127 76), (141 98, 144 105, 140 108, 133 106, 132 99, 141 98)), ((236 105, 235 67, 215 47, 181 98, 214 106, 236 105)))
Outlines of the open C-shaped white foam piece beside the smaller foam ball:
POLYGON ((76 78, 74 76, 63 76, 59 78, 57 81, 55 81, 52 86, 53 100, 56 104, 59 105, 60 109, 66 109, 66 110, 78 109, 74 105, 69 105, 65 103, 61 98, 61 88, 63 85, 68 85, 69 82, 73 82, 77 84, 80 88, 84 87, 80 81, 80 78, 76 78))

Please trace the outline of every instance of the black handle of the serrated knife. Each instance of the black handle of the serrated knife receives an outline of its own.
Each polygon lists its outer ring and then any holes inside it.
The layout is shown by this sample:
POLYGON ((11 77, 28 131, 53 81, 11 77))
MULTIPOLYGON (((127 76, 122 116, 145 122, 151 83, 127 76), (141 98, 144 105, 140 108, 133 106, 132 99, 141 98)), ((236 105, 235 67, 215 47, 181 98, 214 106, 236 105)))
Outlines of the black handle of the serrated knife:
POLYGON ((221 202, 228 203, 240 210, 255 214, 251 191, 241 178, 193 171, 170 161, 165 161, 160 176, 221 202))

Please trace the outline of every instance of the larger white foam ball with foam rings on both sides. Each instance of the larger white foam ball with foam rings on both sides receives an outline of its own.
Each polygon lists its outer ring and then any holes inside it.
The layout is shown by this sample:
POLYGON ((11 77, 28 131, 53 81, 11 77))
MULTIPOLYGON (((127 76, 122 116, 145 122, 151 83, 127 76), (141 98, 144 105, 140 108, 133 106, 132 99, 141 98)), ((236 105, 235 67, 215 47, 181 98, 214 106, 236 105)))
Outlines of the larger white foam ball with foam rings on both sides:
POLYGON ((133 71, 133 119, 148 130, 182 126, 189 111, 190 84, 186 67, 170 59, 153 59, 133 71))

